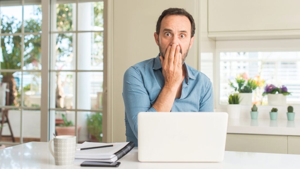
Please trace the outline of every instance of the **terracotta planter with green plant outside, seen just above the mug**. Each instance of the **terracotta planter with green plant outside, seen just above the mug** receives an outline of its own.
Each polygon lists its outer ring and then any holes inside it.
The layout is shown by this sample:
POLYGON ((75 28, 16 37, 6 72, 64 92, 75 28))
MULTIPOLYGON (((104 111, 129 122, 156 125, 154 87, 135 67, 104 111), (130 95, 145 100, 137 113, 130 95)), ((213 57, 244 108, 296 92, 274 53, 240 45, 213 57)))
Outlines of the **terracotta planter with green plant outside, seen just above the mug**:
MULTIPOLYGON (((60 136, 60 135, 72 135, 75 136, 75 126, 73 125, 73 122, 67 121, 67 118, 64 114, 61 114, 61 117, 63 119, 63 123, 62 124, 57 124, 57 126, 55 126, 55 131, 56 131, 56 135, 60 136)), ((77 137, 79 137, 78 133, 80 130, 80 126, 77 126, 77 137)))

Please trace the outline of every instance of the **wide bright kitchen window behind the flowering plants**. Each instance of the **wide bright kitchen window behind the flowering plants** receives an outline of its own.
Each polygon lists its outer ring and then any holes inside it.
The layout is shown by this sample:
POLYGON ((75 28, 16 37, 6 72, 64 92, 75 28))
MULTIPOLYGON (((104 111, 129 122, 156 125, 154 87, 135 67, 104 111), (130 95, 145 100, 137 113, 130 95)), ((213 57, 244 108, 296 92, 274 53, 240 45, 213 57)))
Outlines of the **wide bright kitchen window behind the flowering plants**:
MULTIPOLYGON (((233 91, 229 80, 246 73, 250 78, 259 75, 265 84, 285 85, 292 95, 287 96, 288 104, 300 103, 300 52, 220 52, 220 104, 226 104, 233 91)), ((267 104, 263 97, 264 87, 254 92, 253 102, 267 104)))

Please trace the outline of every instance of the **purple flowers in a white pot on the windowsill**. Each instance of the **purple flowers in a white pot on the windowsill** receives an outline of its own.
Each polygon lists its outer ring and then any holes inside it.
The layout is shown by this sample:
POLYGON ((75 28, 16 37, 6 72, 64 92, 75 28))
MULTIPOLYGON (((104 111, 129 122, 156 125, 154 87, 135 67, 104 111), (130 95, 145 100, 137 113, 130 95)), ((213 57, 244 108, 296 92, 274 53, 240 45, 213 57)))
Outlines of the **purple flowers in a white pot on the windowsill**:
POLYGON ((269 84, 266 85, 262 96, 268 95, 268 104, 271 106, 285 106, 286 96, 290 94, 284 85, 277 88, 275 85, 269 84))

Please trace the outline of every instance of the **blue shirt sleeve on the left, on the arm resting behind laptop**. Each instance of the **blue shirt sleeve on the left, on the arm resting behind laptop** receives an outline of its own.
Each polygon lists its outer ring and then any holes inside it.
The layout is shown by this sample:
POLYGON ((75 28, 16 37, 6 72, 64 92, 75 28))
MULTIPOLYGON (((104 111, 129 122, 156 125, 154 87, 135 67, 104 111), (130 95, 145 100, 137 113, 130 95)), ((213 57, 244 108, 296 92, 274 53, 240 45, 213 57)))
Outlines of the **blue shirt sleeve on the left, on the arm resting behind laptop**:
POLYGON ((123 100, 130 128, 137 137, 137 114, 139 112, 156 112, 150 103, 143 78, 137 68, 130 67, 124 74, 123 100))

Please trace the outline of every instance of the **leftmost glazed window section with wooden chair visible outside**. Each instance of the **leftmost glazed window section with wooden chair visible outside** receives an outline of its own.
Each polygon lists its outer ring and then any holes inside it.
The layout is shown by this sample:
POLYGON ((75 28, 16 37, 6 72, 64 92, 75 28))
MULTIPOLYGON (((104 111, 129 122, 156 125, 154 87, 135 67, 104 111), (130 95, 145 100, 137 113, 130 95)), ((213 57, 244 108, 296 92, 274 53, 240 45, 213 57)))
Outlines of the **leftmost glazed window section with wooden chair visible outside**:
POLYGON ((0 20, 0 108, 12 130, 4 123, 0 144, 40 141, 41 1, 1 1, 0 20))

